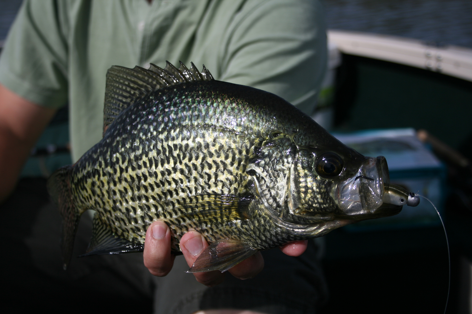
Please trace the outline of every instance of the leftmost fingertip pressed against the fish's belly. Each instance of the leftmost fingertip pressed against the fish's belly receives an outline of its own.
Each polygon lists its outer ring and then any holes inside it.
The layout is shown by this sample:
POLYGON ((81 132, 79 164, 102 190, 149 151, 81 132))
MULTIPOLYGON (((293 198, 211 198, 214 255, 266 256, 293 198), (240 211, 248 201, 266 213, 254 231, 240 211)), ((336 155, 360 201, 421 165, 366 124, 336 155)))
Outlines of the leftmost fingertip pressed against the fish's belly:
POLYGON ((155 221, 149 226, 143 258, 144 266, 154 276, 165 276, 172 269, 175 256, 170 253, 170 229, 163 221, 155 221))

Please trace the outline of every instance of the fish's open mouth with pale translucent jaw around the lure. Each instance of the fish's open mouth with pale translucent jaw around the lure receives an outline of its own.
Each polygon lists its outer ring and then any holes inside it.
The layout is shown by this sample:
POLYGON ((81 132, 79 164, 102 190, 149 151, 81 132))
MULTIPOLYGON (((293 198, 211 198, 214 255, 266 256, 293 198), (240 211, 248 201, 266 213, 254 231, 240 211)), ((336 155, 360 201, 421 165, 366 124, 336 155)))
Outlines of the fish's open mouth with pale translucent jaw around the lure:
POLYGON ((367 157, 353 177, 337 186, 339 216, 363 220, 396 215, 403 204, 388 197, 396 188, 390 184, 385 157, 367 157))

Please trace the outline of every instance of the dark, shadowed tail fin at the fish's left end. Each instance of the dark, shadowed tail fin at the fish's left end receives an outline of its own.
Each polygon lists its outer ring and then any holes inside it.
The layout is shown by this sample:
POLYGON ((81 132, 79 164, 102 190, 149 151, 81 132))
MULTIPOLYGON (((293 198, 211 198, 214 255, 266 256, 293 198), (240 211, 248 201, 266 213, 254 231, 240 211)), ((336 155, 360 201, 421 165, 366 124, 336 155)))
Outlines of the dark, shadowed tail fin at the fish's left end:
POLYGON ((64 270, 72 258, 74 239, 80 220, 80 212, 76 208, 72 197, 71 170, 72 166, 62 167, 54 171, 48 179, 48 192, 52 200, 59 206, 59 212, 62 216, 61 249, 64 270))

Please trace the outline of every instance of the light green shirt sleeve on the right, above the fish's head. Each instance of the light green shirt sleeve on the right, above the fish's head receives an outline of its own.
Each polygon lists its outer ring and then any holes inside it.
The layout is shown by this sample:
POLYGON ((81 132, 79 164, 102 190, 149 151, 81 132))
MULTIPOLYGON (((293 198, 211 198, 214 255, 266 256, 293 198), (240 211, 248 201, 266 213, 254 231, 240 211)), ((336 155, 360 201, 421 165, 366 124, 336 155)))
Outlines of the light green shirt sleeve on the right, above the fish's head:
POLYGON ((327 64, 322 6, 260 2, 246 5, 229 34, 220 79, 272 92, 311 115, 327 64))

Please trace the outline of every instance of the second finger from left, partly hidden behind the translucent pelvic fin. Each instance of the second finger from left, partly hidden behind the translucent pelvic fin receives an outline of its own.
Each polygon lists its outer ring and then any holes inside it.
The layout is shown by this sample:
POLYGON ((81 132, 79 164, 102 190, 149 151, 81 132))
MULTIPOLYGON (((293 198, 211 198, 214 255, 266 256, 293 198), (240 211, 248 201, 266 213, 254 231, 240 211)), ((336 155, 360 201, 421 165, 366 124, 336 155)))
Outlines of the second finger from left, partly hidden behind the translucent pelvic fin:
MULTIPOLYGON (((180 249, 182 250, 189 267, 194 265, 195 260, 207 246, 208 243, 206 242, 205 238, 202 236, 202 234, 196 231, 189 231, 185 233, 180 240, 180 249)), ((220 282, 223 282, 224 279, 224 275, 221 274, 219 270, 194 273, 194 276, 198 282, 208 287, 215 286, 220 282)))

